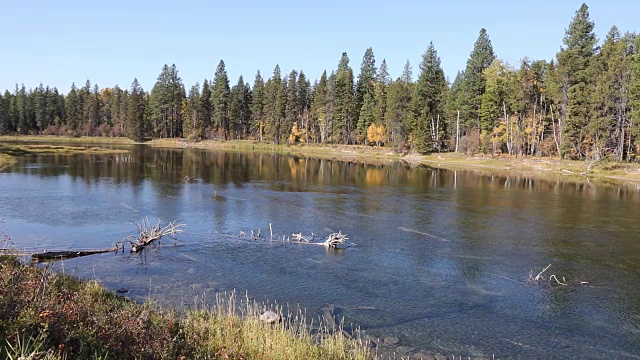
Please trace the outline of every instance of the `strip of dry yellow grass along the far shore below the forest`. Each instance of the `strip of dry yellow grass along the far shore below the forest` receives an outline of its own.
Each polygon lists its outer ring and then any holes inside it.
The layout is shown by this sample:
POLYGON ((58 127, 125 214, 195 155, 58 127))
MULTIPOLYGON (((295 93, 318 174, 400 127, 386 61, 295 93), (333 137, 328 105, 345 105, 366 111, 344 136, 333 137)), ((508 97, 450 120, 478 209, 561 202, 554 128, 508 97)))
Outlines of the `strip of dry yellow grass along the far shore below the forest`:
MULTIPOLYGON (((103 149, 100 144, 134 145, 127 138, 65 137, 65 136, 0 136, 0 168, 15 162, 13 155, 114 153, 122 149, 103 149), (37 143, 78 144, 78 146, 34 145, 37 143), (96 147, 79 145, 95 144, 96 147), (13 151, 12 149, 18 149, 13 151), (26 149, 26 151, 23 151, 26 149)), ((510 156, 486 154, 466 155, 442 152, 429 155, 402 154, 390 148, 365 145, 328 144, 272 144, 251 140, 190 141, 181 138, 154 139, 145 142, 156 148, 195 148, 202 150, 229 150, 239 152, 267 152, 318 159, 356 161, 369 164, 403 162, 411 166, 426 165, 433 168, 462 171, 485 171, 497 174, 526 174, 535 178, 562 177, 575 181, 600 181, 608 183, 640 182, 640 164, 615 160, 567 160, 558 157, 510 156)))

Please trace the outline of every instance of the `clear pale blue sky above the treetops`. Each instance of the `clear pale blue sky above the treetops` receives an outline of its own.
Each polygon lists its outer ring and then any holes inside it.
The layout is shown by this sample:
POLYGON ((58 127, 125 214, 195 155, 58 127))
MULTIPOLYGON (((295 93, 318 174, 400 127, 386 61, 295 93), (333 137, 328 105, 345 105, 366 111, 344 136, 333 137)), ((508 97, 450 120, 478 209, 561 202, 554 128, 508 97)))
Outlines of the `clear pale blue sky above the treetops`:
MULTIPOLYGON (((128 88, 137 77, 150 90, 166 64, 175 63, 185 87, 211 79, 220 59, 231 85, 239 75, 253 84, 303 70, 320 77, 342 52, 358 74, 372 47, 376 65, 386 58, 392 77, 407 60, 418 75, 421 55, 433 41, 451 80, 465 67, 480 28, 494 51, 520 59, 550 60, 582 1, 8 1, 0 6, 0 89, 40 82, 66 93, 86 79, 128 88)), ((638 32, 640 2, 587 2, 596 34, 611 26, 638 32)))

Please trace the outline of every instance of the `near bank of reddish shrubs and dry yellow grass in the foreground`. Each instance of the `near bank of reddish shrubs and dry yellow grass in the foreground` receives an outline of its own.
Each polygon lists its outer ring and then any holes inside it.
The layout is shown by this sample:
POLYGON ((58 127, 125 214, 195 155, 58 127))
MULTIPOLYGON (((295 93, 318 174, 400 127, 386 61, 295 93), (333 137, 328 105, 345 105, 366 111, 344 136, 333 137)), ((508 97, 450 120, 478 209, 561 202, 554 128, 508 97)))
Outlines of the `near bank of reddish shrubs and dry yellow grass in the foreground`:
POLYGON ((0 284, 0 357, 10 359, 371 358, 361 341, 311 335, 301 313, 265 324, 234 296, 176 312, 10 256, 0 256, 0 284))

